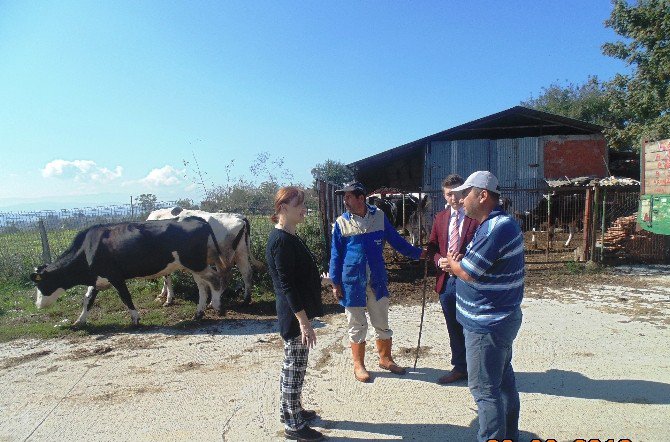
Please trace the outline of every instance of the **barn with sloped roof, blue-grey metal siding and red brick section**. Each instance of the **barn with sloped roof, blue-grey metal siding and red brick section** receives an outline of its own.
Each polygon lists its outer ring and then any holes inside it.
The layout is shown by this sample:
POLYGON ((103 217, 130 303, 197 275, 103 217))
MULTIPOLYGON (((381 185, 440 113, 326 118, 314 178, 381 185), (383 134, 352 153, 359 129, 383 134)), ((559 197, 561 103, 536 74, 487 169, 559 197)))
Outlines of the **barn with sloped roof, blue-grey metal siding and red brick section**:
POLYGON ((450 173, 489 170, 503 189, 546 188, 546 179, 608 176, 602 127, 523 106, 355 161, 368 189, 437 193, 450 173))

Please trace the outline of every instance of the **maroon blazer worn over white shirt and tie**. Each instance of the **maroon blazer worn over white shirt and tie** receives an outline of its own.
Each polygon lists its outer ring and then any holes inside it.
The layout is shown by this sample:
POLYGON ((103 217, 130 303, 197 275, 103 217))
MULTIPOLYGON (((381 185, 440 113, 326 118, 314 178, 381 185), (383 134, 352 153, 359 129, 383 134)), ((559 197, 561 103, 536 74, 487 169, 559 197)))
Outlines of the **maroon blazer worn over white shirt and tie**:
MULTIPOLYGON (((449 248, 449 221, 451 220, 451 207, 448 209, 442 210, 435 215, 435 221, 433 222, 433 230, 430 232, 430 240, 428 241, 428 251, 429 253, 435 253, 433 255, 433 262, 435 267, 437 267, 437 278, 435 281, 435 291, 441 293, 444 288, 444 283, 447 280, 447 272, 443 271, 440 266, 437 265, 437 261, 440 258, 447 256, 447 250, 449 248)), ((475 236, 475 230, 479 227, 479 221, 465 216, 463 218, 463 229, 462 235, 460 238, 460 243, 458 244, 458 250, 460 253, 465 254, 465 248, 468 246, 472 238, 475 236)))

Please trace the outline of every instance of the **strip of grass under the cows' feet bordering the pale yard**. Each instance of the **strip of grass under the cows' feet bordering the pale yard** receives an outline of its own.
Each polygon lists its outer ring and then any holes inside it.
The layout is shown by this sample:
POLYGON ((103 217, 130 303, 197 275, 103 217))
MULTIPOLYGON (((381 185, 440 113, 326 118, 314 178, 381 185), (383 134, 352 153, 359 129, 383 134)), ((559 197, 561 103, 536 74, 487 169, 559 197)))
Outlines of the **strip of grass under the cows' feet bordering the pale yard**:
MULTIPOLYGON (((175 300, 169 307, 163 307, 155 300, 162 288, 162 280, 132 280, 128 288, 133 303, 140 314, 140 327, 192 327, 199 323, 193 321, 197 304, 197 287, 188 274, 173 275, 175 281, 175 300)), ((240 314, 273 314, 274 294, 272 290, 259 282, 252 290, 252 305, 241 307, 239 296, 226 298, 228 307, 225 316, 220 317, 208 309, 204 321, 236 318, 240 314), (229 309, 234 309, 231 311, 229 309)), ((107 332, 135 330, 131 325, 128 309, 119 299, 114 289, 98 294, 90 312, 86 326, 72 327, 81 313, 82 300, 86 288, 83 286, 67 290, 52 306, 38 309, 35 306, 35 288, 32 284, 16 281, 0 282, 0 342, 17 338, 57 338, 63 336, 88 335, 107 332)))

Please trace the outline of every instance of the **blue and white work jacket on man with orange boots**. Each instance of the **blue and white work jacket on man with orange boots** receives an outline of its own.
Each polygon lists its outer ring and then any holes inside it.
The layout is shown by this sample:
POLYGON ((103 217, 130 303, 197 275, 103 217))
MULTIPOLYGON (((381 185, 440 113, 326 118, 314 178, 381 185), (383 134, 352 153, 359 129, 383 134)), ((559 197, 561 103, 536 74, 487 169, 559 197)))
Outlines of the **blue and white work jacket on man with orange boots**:
POLYGON ((362 226, 351 213, 344 212, 333 227, 329 272, 333 284, 342 286, 344 298, 340 304, 344 307, 365 307, 368 266, 370 287, 377 300, 389 295, 385 241, 408 258, 419 259, 421 255, 421 249, 405 241, 376 206, 368 205, 368 216, 370 219, 362 226))

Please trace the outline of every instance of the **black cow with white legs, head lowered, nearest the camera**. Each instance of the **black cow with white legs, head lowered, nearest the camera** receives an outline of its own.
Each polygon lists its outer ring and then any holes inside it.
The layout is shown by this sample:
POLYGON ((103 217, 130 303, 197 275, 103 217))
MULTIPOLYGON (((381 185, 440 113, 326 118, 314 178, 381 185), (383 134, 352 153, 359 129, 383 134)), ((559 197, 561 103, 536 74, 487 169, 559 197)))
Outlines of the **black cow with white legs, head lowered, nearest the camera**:
POLYGON ((53 264, 40 266, 30 275, 37 285, 38 308, 47 307, 65 290, 88 285, 84 306, 76 325, 86 322, 100 290, 114 287, 130 311, 133 324, 139 315, 126 280, 157 278, 175 270, 193 274, 199 291, 196 319, 202 318, 208 292, 212 304, 220 309, 221 282, 211 266, 222 259, 210 225, 197 217, 181 222, 103 224, 77 234, 70 247, 53 264))

